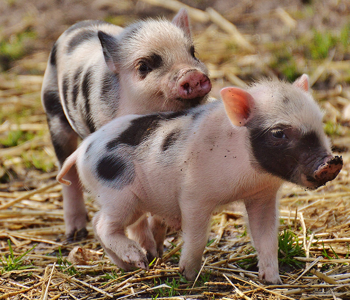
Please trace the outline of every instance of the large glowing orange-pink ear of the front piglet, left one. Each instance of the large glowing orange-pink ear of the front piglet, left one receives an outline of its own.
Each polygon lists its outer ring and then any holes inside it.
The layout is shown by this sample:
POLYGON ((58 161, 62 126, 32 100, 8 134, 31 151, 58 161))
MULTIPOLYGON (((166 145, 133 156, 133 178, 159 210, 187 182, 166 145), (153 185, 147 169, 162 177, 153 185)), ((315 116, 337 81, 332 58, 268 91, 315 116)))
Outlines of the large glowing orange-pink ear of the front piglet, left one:
POLYGON ((225 87, 220 91, 226 114, 233 125, 244 126, 250 119, 254 99, 247 91, 238 87, 225 87))

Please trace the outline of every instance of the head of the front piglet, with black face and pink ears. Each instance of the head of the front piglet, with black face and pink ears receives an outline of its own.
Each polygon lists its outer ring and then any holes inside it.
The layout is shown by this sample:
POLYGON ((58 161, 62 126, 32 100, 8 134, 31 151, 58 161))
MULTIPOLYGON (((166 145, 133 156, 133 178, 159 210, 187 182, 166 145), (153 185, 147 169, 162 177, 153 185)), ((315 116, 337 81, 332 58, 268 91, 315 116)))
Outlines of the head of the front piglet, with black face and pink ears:
POLYGON ((307 75, 292 84, 263 80, 247 91, 226 87, 220 93, 232 124, 247 127, 250 160, 259 169, 309 188, 337 176, 342 158, 331 154, 307 75))

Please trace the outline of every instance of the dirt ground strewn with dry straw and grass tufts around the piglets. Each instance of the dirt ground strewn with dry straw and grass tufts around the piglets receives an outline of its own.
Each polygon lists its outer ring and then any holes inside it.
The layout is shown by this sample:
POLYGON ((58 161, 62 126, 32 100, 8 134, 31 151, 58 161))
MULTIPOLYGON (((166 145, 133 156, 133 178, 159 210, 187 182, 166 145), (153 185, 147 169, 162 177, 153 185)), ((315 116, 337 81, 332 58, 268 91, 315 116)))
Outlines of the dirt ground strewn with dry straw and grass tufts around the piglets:
MULTIPOLYGON (((350 299, 350 1, 0 0, 0 299, 350 299), (40 103, 53 42, 82 19, 124 25, 188 9, 198 57, 218 97, 223 86, 302 73, 342 155, 338 177, 317 190, 281 189, 283 285, 257 279, 241 209, 213 217, 196 282, 178 273, 181 239, 168 232, 149 271, 115 267, 88 226, 66 243, 61 187, 40 103), (283 242, 284 241, 284 242, 283 242), (67 261, 77 246, 79 262, 67 261)), ((91 218, 97 210, 86 195, 91 218)))

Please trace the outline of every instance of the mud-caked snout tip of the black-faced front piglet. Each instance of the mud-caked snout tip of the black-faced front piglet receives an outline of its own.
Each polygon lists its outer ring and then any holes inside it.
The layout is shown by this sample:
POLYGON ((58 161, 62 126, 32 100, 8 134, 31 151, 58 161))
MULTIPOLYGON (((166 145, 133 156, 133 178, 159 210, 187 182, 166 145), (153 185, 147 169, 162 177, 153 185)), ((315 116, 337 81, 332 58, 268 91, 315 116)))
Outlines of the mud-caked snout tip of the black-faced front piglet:
POLYGON ((341 156, 327 156, 324 158, 318 168, 313 172, 313 178, 318 183, 318 186, 325 182, 333 180, 342 168, 341 156))

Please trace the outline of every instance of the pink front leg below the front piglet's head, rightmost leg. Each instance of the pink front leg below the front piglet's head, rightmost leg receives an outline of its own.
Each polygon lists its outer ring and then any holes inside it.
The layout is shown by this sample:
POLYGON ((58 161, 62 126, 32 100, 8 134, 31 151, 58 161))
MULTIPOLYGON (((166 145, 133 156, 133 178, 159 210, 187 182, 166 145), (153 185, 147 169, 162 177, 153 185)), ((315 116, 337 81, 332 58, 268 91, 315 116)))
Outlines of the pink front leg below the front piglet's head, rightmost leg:
POLYGON ((281 284, 278 274, 278 214, 276 191, 244 201, 258 256, 259 279, 281 284))

